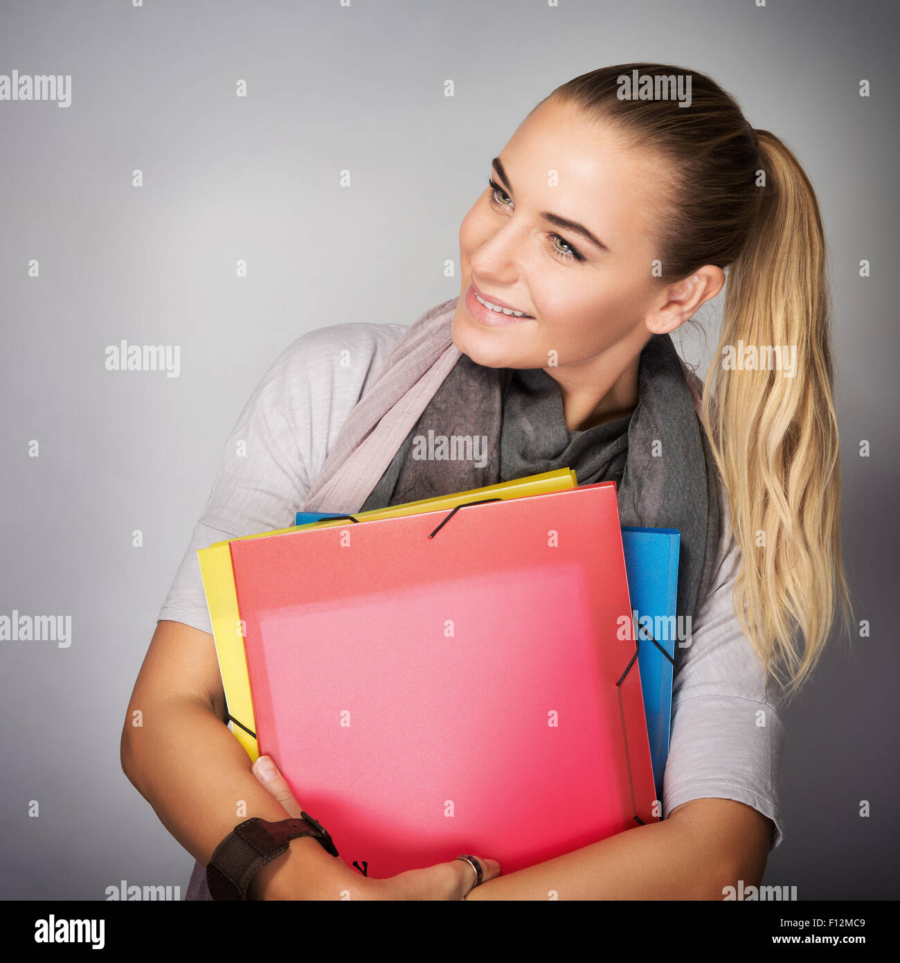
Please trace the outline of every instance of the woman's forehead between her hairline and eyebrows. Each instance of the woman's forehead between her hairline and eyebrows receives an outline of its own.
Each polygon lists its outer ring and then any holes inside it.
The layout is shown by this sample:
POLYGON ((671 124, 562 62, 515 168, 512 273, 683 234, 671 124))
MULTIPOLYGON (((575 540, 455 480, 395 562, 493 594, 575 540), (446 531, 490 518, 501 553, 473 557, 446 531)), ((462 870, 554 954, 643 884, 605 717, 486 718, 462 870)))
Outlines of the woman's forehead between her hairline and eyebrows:
POLYGON ((613 248, 654 237, 669 190, 664 162, 609 123, 552 98, 500 157, 520 209, 580 221, 613 248))

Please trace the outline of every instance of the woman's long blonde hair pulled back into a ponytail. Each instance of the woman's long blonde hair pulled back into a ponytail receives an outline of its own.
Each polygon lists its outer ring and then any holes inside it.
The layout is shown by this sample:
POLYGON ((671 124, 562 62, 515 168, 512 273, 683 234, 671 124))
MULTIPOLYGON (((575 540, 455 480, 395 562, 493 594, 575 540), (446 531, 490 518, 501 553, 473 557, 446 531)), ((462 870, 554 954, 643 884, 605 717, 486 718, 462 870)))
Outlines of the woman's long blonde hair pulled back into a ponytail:
POLYGON ((754 130, 733 98, 696 71, 615 65, 551 97, 611 123, 666 163, 674 192, 660 212, 659 283, 707 264, 727 273, 703 421, 741 552, 734 611, 766 670, 793 693, 822 654, 838 605, 848 626, 850 611, 826 246, 810 180, 784 143, 754 130), (620 79, 634 70, 689 75, 689 106, 620 96, 620 79), (793 376, 775 366, 726 368, 722 359, 741 342, 795 347, 793 376))

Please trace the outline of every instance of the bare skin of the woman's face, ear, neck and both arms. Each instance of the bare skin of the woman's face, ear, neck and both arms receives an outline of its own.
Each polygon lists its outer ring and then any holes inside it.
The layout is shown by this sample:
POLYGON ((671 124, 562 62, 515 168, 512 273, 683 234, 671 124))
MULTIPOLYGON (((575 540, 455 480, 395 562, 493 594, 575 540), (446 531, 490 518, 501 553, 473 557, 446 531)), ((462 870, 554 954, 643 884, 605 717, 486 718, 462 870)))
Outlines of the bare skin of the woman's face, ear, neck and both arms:
MULTIPOLYGON (((485 190, 460 226, 463 277, 453 342, 479 364, 543 368, 559 386, 570 429, 620 418, 637 404, 638 359, 647 340, 687 321, 718 294, 724 274, 707 265, 674 284, 653 278, 659 256, 653 228, 671 190, 664 166, 573 108, 545 101, 500 157, 512 183, 495 172, 498 203, 485 190), (553 187, 549 170, 557 172, 553 187), (539 211, 579 221, 608 249, 548 224, 539 211), (585 260, 560 257, 572 248, 585 260), (472 279, 488 299, 494 295, 533 317, 499 327, 479 323, 464 304, 472 279)), ((122 768, 204 865, 238 822, 283 820, 302 806, 270 760, 251 768, 224 718, 213 637, 159 622, 122 729, 122 768), (133 724, 138 710, 140 727, 133 724)), ((772 829, 771 820, 743 803, 693 799, 666 820, 519 872, 502 875, 489 853, 476 853, 484 881, 475 889, 467 863, 370 879, 303 838, 254 876, 249 896, 721 899, 738 879, 759 885, 772 829)))

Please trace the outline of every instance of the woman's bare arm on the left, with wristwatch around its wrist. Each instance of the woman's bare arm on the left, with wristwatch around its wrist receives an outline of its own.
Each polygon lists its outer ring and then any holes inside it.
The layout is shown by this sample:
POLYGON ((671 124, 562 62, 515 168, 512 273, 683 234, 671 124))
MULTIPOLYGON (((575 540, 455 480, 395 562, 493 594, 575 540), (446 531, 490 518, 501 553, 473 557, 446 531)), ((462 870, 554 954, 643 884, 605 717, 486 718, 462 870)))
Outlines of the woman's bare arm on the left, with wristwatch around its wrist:
MULTIPOLYGON (((160 621, 128 704, 122 769, 172 836, 204 865, 238 823, 290 815, 252 774, 249 757, 223 719, 213 637, 160 621)), ((248 896, 334 899, 348 890, 350 898, 365 898, 370 888, 317 840, 300 837, 254 875, 248 896)))

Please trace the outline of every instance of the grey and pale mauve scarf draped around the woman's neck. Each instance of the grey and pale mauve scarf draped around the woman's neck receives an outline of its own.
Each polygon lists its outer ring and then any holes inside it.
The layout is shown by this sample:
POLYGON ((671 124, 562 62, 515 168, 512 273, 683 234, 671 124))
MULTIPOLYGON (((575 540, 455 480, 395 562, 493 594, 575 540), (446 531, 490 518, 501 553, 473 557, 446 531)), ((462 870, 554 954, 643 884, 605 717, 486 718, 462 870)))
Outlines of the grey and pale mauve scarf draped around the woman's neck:
POLYGON ((452 344, 455 306, 437 305, 400 337, 303 510, 384 508, 569 467, 579 484, 616 482, 622 525, 681 533, 676 611, 693 617, 714 574, 721 520, 701 382, 671 337, 654 335, 641 352, 630 416, 573 430, 546 370, 485 367, 452 344))

